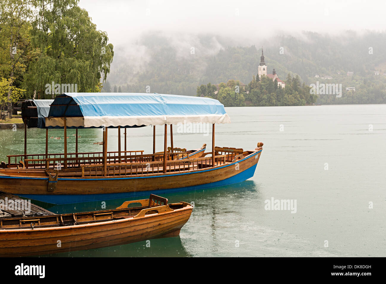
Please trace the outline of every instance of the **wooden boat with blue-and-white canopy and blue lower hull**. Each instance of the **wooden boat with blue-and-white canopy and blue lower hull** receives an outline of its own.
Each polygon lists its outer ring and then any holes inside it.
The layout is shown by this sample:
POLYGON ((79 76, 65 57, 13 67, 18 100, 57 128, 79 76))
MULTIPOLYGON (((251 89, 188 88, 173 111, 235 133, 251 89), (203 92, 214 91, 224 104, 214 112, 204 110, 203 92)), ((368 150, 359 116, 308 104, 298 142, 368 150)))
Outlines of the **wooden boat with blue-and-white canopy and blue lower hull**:
POLYGON ((217 187, 251 178, 263 146, 259 142, 254 150, 216 147, 215 123, 228 123, 230 119, 220 102, 201 97, 64 94, 56 97, 51 104, 45 122, 47 127, 64 128, 64 153, 48 153, 46 128, 46 153, 27 154, 25 132, 24 155, 8 156, 8 163, 3 162, 0 168, 2 191, 43 202, 65 204, 217 187), (105 97, 108 99, 110 112, 104 109, 105 97), (125 104, 126 100, 129 105, 125 104), (140 104, 142 100, 146 100, 147 105, 151 106, 149 114, 142 105, 135 111, 133 105, 140 104), (93 102, 91 107, 90 101, 93 102), (176 109, 170 109, 168 105, 173 105, 176 109), (190 108, 188 110, 187 105, 190 108), (206 151, 206 144, 193 150, 173 146, 172 125, 186 120, 212 124, 212 151, 206 151), (102 152, 78 153, 76 140, 75 152, 67 153, 67 127, 76 128, 78 137, 78 128, 102 127, 103 124, 108 126, 103 131, 102 152), (152 154, 144 154, 144 150, 126 150, 126 128, 143 125, 153 125, 152 154), (162 152, 155 151, 156 125, 164 125, 162 152), (108 152, 108 129, 118 128, 120 137, 121 127, 125 129, 125 149, 121 151, 118 139, 118 151, 108 152))

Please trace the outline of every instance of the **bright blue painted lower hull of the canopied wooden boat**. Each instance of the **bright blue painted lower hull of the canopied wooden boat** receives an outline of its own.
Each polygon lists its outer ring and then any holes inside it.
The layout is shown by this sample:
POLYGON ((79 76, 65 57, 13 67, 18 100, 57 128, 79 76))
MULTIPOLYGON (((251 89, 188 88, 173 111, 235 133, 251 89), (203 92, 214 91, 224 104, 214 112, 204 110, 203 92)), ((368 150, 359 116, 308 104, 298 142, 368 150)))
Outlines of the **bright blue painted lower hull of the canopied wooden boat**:
POLYGON ((178 188, 172 188, 172 189, 149 190, 149 191, 141 191, 141 192, 123 192, 123 193, 112 193, 112 194, 78 194, 78 195, 18 194, 18 195, 25 197, 27 199, 34 199, 34 200, 52 203, 52 204, 68 204, 68 203, 80 203, 80 202, 90 202, 90 201, 105 201, 108 199, 148 196, 151 193, 160 195, 160 194, 164 194, 164 193, 208 189, 208 188, 212 188, 212 187, 219 187, 219 186, 223 186, 223 185, 236 184, 238 182, 243 182, 243 181, 253 177, 255 170, 256 170, 256 166, 257 166, 257 164, 252 165, 252 167, 244 170, 243 172, 238 173, 237 175, 234 175, 232 177, 229 177, 227 179, 220 180, 217 182, 212 182, 209 184, 195 185, 195 186, 178 187, 178 188))

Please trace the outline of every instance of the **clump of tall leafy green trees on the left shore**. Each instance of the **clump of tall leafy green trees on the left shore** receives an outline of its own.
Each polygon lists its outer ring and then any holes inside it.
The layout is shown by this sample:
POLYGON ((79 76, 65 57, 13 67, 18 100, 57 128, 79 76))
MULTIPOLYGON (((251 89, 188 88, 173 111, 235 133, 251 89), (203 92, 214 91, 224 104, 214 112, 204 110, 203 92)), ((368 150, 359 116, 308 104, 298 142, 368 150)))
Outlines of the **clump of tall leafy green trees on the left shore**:
POLYGON ((69 86, 78 92, 100 92, 110 72, 113 45, 78 3, 0 3, 0 77, 25 89, 25 98, 51 99, 69 86))

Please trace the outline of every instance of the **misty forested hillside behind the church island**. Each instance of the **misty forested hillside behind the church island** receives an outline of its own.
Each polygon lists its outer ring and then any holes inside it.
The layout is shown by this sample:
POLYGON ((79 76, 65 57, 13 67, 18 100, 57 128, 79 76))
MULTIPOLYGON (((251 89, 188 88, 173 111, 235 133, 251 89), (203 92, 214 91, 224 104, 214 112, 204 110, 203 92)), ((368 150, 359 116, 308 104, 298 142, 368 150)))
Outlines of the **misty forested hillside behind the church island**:
MULTIPOLYGON (((240 41, 242 43, 242 41, 240 41)), ((248 85, 257 74, 264 46, 268 73, 275 68, 285 80, 299 75, 309 85, 317 80, 356 87, 356 96, 336 102, 319 96, 322 103, 386 103, 386 33, 347 31, 339 36, 303 32, 276 36, 255 45, 238 44, 217 36, 173 38, 148 34, 136 44, 115 49, 110 75, 103 91, 157 92, 196 95, 197 86, 239 80, 248 85), (347 76, 347 72, 354 76, 347 76), (379 75, 374 75, 379 71, 379 75), (319 78, 315 78, 315 75, 319 78), (326 81, 322 77, 332 77, 326 81), (323 81, 324 80, 324 81, 323 81), (147 87, 149 86, 149 87, 147 87), (374 88, 379 92, 372 98, 374 88), (366 93, 363 97, 362 94, 366 93), (366 99, 366 101, 364 101, 366 99)), ((343 96, 345 97, 345 95, 343 96)))

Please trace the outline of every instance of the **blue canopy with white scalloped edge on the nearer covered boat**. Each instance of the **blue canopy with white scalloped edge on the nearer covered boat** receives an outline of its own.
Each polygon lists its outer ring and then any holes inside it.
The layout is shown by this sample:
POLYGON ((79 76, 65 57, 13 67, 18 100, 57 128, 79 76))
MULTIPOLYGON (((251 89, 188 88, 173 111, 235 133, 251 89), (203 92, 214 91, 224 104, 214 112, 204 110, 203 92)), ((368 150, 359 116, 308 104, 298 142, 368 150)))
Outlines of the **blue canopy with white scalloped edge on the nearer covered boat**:
POLYGON ((140 93, 65 93, 51 104, 46 126, 100 127, 230 123, 218 100, 140 93))

